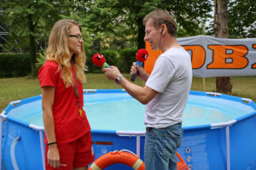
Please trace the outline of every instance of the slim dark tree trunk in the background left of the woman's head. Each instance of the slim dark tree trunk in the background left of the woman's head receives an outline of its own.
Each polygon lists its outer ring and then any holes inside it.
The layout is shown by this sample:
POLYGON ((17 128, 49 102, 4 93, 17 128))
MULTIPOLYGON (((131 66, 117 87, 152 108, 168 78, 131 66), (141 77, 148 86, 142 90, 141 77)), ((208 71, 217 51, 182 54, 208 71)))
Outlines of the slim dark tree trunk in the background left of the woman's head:
POLYGON ((32 23, 32 15, 28 16, 28 25, 29 25, 29 53, 30 53, 30 66, 32 71, 32 76, 36 75, 35 62, 36 62, 36 41, 35 41, 35 27, 32 23))

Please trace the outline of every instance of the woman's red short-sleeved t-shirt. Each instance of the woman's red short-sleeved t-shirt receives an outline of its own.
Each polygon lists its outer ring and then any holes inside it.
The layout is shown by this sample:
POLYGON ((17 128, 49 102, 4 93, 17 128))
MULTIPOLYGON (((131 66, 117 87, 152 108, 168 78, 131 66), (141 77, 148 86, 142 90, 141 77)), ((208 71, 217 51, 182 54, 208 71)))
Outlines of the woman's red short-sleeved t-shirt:
MULTIPOLYGON (((73 69, 72 69, 73 71, 73 69)), ((38 71, 41 88, 44 86, 55 87, 55 100, 52 108, 55 122, 55 138, 59 144, 69 143, 79 139, 90 131, 90 124, 83 111, 79 116, 79 104, 74 88, 66 88, 61 79, 61 71, 58 71, 58 64, 47 60, 38 71)), ((73 81, 75 82, 74 73, 73 81)), ((79 82, 79 80, 78 80, 79 82)), ((80 107, 84 105, 83 86, 76 84, 79 91, 80 107)), ((46 141, 47 142, 47 141, 46 141)))

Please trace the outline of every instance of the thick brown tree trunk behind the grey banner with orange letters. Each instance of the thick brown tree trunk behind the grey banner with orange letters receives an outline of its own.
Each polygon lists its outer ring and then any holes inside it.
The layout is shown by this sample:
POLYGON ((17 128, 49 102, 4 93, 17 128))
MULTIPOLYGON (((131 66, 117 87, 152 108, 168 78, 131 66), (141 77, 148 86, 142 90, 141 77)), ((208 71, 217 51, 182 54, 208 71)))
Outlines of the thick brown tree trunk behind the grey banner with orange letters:
MULTIPOLYGON (((214 0, 214 32, 215 37, 229 37, 228 0, 214 0)), ((216 77, 216 91, 222 94, 232 93, 230 77, 216 77)))

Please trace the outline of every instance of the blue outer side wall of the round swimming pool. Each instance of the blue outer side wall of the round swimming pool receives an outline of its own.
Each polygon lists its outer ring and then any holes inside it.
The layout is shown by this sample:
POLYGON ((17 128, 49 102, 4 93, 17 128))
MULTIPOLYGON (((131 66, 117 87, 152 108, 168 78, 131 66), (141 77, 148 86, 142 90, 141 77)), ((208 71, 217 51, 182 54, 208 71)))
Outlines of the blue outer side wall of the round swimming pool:
MULTIPOLYGON (((96 93, 124 93, 122 90, 96 90, 96 93)), ((191 92, 193 95, 203 95, 211 98, 236 100, 244 105, 250 105, 254 112, 237 118, 230 127, 230 169, 256 169, 256 105, 253 101, 235 96, 191 92), (243 100, 243 101, 242 101, 243 100), (244 102, 249 101, 249 102, 244 102)), ((41 99, 36 96, 22 99, 10 104, 4 111, 6 121, 3 122, 3 165, 6 170, 14 169, 11 161, 10 150, 16 138, 15 160, 20 170, 43 169, 40 149, 39 131, 29 127, 29 124, 9 117, 8 112, 19 105, 41 99)), ((113 150, 131 150, 137 153, 137 137, 134 135, 118 135, 116 131, 91 130, 96 158, 113 150)), ((145 137, 140 138, 140 157, 144 159, 143 147, 145 137)), ((216 170, 227 169, 226 127, 212 127, 203 125, 183 127, 183 142, 178 148, 179 154, 191 169, 216 170)), ((3 168, 2 168, 3 169, 3 168)), ((108 169, 131 169, 124 165, 113 165, 108 169)))

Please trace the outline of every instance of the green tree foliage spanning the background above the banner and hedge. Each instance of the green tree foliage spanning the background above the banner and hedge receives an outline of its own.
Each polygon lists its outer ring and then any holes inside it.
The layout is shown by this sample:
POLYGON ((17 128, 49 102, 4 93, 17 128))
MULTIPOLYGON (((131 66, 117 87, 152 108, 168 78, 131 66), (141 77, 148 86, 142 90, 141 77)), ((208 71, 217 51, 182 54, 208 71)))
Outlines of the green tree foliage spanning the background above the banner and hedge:
MULTIPOLYGON (((123 48, 144 48, 143 17, 154 8, 167 9, 177 21, 177 37, 212 35, 212 1, 209 0, 83 0, 8 1, 1 3, 1 25, 11 34, 4 52, 30 52, 32 62, 39 48, 46 48, 49 31, 62 18, 82 25, 86 53, 123 48), (4 26, 5 27, 5 26, 4 26), (91 35, 95 34, 95 37, 91 35)), ((230 0, 230 37, 256 37, 256 3, 230 0), (246 9, 246 10, 245 10, 246 9)), ((33 65, 33 63, 32 63, 33 65)))

